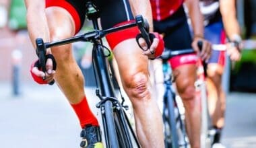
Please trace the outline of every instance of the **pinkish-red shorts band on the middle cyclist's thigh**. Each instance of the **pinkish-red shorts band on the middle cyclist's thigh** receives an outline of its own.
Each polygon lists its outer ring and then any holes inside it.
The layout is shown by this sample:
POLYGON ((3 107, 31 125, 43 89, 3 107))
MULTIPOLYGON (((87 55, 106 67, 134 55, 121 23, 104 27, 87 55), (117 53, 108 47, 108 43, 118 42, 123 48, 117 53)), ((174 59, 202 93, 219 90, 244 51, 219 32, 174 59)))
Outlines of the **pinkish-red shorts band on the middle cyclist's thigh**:
POLYGON ((172 57, 169 60, 169 63, 172 69, 176 69, 181 65, 187 65, 187 64, 195 65, 197 63, 197 60, 198 60, 197 54, 191 53, 191 54, 183 54, 183 55, 172 57))

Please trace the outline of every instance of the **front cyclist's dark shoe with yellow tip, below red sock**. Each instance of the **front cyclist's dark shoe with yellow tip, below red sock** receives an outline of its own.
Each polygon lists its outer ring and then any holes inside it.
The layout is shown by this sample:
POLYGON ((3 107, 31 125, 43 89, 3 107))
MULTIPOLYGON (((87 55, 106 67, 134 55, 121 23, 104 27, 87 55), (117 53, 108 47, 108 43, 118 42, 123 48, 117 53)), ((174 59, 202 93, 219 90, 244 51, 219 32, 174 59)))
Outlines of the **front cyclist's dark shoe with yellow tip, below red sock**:
POLYGON ((82 142, 80 147, 82 148, 102 148, 103 144, 100 137, 100 127, 86 125, 82 130, 81 135, 82 142))

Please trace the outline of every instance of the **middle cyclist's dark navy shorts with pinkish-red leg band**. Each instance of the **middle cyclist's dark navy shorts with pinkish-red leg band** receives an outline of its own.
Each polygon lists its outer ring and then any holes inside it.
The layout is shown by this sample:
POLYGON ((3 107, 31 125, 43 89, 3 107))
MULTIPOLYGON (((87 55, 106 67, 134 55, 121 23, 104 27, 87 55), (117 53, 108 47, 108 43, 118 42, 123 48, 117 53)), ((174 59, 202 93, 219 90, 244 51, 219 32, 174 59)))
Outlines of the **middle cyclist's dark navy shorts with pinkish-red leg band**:
MULTIPOLYGON (((187 24, 187 16, 185 14, 183 5, 172 14, 170 17, 157 22, 154 20, 154 31, 164 34, 164 44, 166 50, 183 50, 192 48, 192 38, 187 24)), ((183 54, 172 57, 170 60, 172 69, 181 65, 196 64, 196 54, 183 54)))

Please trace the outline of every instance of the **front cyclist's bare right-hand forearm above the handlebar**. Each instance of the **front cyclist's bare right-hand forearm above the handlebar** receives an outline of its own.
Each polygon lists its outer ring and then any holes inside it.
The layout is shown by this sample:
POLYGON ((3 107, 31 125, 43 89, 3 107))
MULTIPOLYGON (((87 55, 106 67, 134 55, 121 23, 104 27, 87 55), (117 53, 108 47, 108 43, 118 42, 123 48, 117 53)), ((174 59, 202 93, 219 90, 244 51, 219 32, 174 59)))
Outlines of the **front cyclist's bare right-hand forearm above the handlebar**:
POLYGON ((150 32, 153 32, 152 11, 149 0, 129 0, 133 15, 146 17, 150 24, 150 32))

